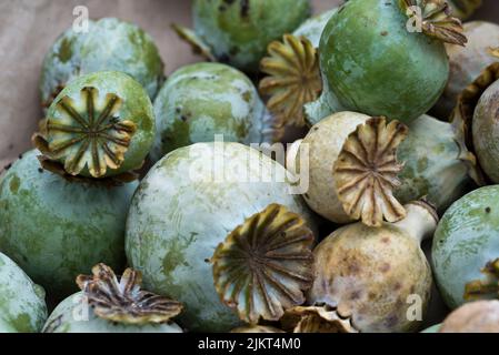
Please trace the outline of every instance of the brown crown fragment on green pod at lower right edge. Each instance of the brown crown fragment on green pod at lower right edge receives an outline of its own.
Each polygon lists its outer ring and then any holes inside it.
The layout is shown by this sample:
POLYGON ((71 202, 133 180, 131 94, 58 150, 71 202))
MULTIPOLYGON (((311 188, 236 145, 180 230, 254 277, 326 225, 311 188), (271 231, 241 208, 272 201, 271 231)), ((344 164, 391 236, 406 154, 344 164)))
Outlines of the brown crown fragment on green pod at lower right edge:
POLYGON ((499 298, 499 258, 488 262, 481 272, 485 280, 475 280, 466 284, 465 300, 499 298))

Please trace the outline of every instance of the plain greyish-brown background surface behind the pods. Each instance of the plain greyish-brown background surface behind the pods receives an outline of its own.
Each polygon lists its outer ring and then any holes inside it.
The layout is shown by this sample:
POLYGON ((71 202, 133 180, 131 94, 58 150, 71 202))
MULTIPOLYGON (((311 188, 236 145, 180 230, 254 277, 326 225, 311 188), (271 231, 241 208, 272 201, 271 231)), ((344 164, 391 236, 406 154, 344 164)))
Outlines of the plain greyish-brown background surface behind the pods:
MULTIPOLYGON (((341 0, 312 0, 315 12, 341 0)), ((499 21, 499 3, 485 0, 476 16, 499 21)), ((167 73, 199 60, 171 31, 172 22, 190 26, 188 0, 0 0, 0 168, 30 149, 41 118, 40 67, 56 38, 73 22, 72 10, 86 6, 90 18, 118 17, 148 31, 160 48, 167 73)))

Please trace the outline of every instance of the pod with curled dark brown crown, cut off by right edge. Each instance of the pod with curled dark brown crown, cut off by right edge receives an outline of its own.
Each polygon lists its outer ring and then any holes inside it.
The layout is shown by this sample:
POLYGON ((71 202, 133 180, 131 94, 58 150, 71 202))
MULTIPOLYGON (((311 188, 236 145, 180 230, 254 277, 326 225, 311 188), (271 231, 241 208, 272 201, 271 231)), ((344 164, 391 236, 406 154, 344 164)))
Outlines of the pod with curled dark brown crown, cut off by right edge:
POLYGON ((499 182, 499 150, 491 144, 499 136, 498 79, 499 62, 496 62, 459 94, 452 113, 452 122, 463 126, 466 145, 477 159, 470 175, 479 185, 499 182))

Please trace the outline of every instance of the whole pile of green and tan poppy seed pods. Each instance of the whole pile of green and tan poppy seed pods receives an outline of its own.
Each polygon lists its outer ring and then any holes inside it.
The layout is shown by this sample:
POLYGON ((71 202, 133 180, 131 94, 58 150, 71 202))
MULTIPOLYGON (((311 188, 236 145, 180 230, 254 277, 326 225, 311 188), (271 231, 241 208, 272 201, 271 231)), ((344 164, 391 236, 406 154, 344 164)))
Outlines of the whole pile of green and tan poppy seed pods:
POLYGON ((480 6, 193 0, 168 78, 133 23, 68 29, 0 174, 0 333, 499 332, 480 6))

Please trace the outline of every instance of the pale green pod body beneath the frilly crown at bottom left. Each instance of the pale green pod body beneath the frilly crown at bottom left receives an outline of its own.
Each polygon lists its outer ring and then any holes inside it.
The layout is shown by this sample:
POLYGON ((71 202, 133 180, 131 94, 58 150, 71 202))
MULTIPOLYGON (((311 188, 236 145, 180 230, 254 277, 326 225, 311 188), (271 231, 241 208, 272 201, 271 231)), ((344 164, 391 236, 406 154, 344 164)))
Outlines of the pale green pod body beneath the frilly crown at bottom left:
POLYGON ((98 317, 79 292, 62 301, 47 320, 43 333, 182 333, 174 323, 131 325, 98 317))

